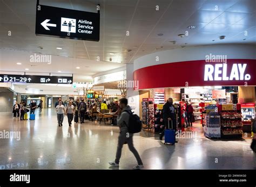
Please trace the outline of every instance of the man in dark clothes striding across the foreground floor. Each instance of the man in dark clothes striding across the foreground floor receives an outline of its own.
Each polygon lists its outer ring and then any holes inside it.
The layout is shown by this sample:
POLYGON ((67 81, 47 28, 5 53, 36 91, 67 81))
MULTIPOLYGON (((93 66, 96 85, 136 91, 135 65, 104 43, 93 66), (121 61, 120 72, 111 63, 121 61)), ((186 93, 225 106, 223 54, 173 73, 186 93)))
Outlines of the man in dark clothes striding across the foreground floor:
MULTIPOLYGON (((120 128, 120 134, 118 136, 118 145, 117 145, 117 153, 116 153, 116 160, 109 162, 111 166, 119 167, 119 160, 122 153, 122 148, 124 144, 128 144, 130 151, 133 153, 133 155, 136 157, 136 160, 138 162, 137 166, 134 166, 133 169, 141 169, 143 168, 142 159, 140 159, 140 156, 137 152, 137 150, 133 146, 133 130, 134 130, 134 124, 136 124, 136 120, 139 120, 137 115, 133 115, 131 112, 130 106, 127 105, 128 100, 125 98, 122 98, 119 100, 119 111, 118 111, 118 118, 117 118, 117 125, 120 128), (135 116, 135 117, 134 117, 135 116), (135 120, 135 121, 134 121, 135 120), (131 124, 132 122, 132 124, 131 124), (130 127, 130 128, 129 128, 130 127)), ((138 131, 141 130, 141 124, 139 122, 138 124, 138 131), (139 130, 140 128, 140 130, 139 130)), ((136 127, 135 127, 136 128, 136 127)))

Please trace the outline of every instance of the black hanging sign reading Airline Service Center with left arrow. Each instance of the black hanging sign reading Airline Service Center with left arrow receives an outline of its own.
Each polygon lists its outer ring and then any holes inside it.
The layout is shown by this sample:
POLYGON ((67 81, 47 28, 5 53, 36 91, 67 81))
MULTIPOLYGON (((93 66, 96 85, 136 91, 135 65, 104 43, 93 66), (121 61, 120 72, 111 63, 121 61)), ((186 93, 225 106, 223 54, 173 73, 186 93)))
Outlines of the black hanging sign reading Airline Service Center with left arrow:
POLYGON ((99 41, 99 13, 37 5, 36 35, 99 41))

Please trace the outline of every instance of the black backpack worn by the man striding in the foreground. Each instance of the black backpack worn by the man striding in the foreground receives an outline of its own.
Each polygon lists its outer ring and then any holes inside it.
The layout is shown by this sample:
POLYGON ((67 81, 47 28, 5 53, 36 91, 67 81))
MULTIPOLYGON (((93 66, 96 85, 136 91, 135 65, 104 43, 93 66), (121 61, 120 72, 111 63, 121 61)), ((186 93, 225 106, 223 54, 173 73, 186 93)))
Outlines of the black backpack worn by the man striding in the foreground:
POLYGON ((142 131, 142 121, 139 119, 139 116, 129 110, 125 110, 124 112, 130 114, 128 126, 126 125, 129 133, 133 134, 142 131))

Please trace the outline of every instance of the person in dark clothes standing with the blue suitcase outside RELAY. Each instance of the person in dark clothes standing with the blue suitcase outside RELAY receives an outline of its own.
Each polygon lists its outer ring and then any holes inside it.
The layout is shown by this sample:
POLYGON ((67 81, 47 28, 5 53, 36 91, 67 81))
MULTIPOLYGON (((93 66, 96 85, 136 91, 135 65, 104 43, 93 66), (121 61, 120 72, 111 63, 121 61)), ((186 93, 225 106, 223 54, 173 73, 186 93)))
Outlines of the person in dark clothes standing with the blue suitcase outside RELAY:
MULTIPOLYGON (((176 131, 177 125, 176 125, 176 114, 175 114, 175 107, 173 105, 173 99, 169 98, 168 102, 164 104, 163 107, 163 117, 164 117, 164 124, 165 128, 172 128, 174 131, 176 131), (168 121, 170 124, 170 127, 168 126, 168 121), (171 121, 172 121, 172 127, 171 127, 171 121)), ((160 133, 159 139, 162 140, 164 136, 164 129, 160 133)))

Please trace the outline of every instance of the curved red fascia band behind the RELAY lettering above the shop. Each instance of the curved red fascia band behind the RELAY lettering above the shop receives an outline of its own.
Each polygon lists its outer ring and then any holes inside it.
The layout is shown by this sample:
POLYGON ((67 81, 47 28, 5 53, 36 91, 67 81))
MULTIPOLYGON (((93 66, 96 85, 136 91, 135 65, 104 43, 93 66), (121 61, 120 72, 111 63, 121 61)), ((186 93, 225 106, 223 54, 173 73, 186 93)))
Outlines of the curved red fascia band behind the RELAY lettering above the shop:
POLYGON ((139 81, 138 90, 186 86, 238 86, 245 85, 245 82, 247 82, 248 86, 255 86, 256 60, 228 59, 227 76, 230 75, 234 63, 247 64, 244 74, 250 74, 251 79, 248 81, 204 81, 205 64, 212 64, 214 66, 217 63, 206 63, 205 60, 196 60, 165 63, 137 69, 133 72, 133 80, 139 81))

